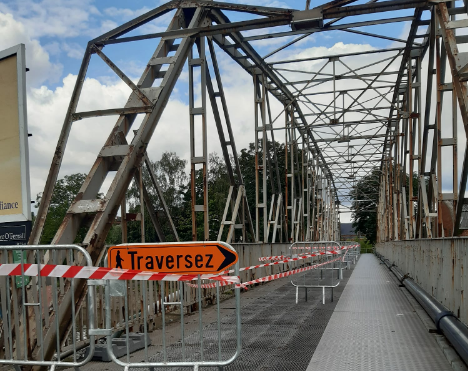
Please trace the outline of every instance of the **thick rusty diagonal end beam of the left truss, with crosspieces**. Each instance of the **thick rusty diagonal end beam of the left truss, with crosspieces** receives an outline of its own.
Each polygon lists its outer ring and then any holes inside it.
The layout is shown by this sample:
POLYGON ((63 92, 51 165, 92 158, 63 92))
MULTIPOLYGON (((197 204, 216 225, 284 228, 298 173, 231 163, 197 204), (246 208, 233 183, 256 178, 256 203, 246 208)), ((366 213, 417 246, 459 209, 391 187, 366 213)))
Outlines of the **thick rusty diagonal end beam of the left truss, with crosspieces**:
MULTIPOLYGON (((179 11, 171 24, 169 25, 169 30, 180 27, 179 24, 179 16, 183 16, 183 12, 179 11)), ((193 17, 189 19, 187 27, 193 28, 200 25, 200 23, 205 19, 205 13, 203 10, 197 10, 193 17)), ((171 41, 169 41, 171 43, 171 41)), ((176 51, 176 61, 174 64, 171 64, 168 71, 165 74, 163 82, 161 83, 161 92, 158 96, 158 99, 154 105, 154 110, 147 114, 145 119, 143 120, 140 128, 138 129, 135 137, 132 140, 132 143, 128 146, 128 153, 120 162, 118 170, 115 174, 115 177, 112 181, 112 184, 107 192, 107 194, 103 198, 102 204, 102 211, 98 211, 94 214, 92 218, 91 225, 89 227, 88 233, 83 241, 84 245, 87 247, 87 250, 93 260, 93 262, 97 262, 99 257, 103 254, 102 247, 105 244, 105 239, 109 229, 112 226, 112 222, 115 219, 118 209, 121 206, 121 202, 125 197, 125 193, 128 189, 130 181, 132 177, 135 175, 136 169, 141 164, 145 152, 146 152, 146 144, 149 142, 155 127, 164 111, 164 108, 168 102, 169 96, 174 88, 174 85, 177 81, 178 76, 182 70, 182 67, 185 63, 185 60, 188 57, 189 50, 193 44, 193 40, 190 38, 185 38, 181 40, 180 44, 178 45, 176 51)), ((157 58, 161 58, 167 55, 164 53, 168 53, 172 44, 167 44, 165 40, 161 40, 156 51, 153 55, 152 61, 157 58)), ((84 61, 89 61, 87 59, 87 55, 85 56, 84 61)), ((85 63, 83 63, 85 64, 85 63)), ((87 66, 87 63, 85 64, 87 66)), ((138 83, 139 87, 151 87, 156 75, 154 74, 155 67, 154 62, 148 65, 145 69, 140 81, 138 83)), ((84 72, 82 78, 84 79, 84 72)), ((80 79, 78 79, 80 81, 80 79)), ((74 99, 77 99, 75 96, 74 99)), ((67 114, 67 117, 71 117, 71 111, 73 111, 74 107, 76 107, 76 103, 73 98, 70 104, 69 112, 70 115, 67 114)), ((131 120, 132 121, 132 120, 131 120)), ((64 127, 67 127, 68 121, 65 122, 64 127)), ((114 129, 110 133, 109 138, 106 141, 105 146, 113 146, 116 140, 116 137, 125 136, 126 133, 130 130, 131 122, 129 118, 122 117, 119 118, 117 121, 114 129)), ((88 174, 85 183, 80 189, 75 201, 72 203, 70 209, 72 209, 74 204, 80 203, 82 201, 92 201, 99 191, 102 182, 106 178, 108 171, 110 170, 110 161, 105 157, 98 157, 96 159, 95 164, 93 165, 90 173, 88 174)), ((53 164, 54 166, 54 164, 53 164)), ((73 243, 78 229, 81 225, 81 222, 86 218, 88 215, 86 214, 73 214, 67 212, 62 224, 60 225, 57 234, 55 235, 52 244, 60 244, 60 243, 73 243)), ((64 295, 64 302, 70 304, 70 298, 72 295, 72 290, 68 290, 64 295)), ((77 284, 73 290, 73 294, 75 298, 80 298, 83 293, 85 292, 85 282, 82 284, 77 284)), ((60 332, 63 332, 66 328, 70 326, 70 313, 71 307, 70 305, 63 305, 60 306, 60 311, 58 315, 58 323, 60 332)), ((52 358, 54 348, 55 348, 55 334, 56 329, 51 328, 45 338, 44 343, 41 344, 44 348, 44 354, 47 359, 52 358)))

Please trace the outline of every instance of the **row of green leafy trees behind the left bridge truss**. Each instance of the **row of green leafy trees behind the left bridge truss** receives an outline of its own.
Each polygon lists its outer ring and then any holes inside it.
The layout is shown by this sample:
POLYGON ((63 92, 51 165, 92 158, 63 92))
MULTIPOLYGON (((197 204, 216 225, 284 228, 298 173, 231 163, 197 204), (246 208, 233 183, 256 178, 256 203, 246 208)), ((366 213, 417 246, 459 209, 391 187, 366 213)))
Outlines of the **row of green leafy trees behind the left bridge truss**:
MULTIPOLYGON (((285 174, 285 156, 286 153, 284 144, 275 143, 279 173, 285 174)), ((268 142, 268 155, 273 159, 273 143, 268 142)), ((301 152, 298 151, 298 156, 301 158, 301 152)), ((259 159, 262 158, 262 153, 259 153, 259 159)), ((229 193, 229 177, 224 158, 216 153, 209 155, 208 165, 208 212, 209 212, 209 229, 210 239, 216 240, 218 237, 219 226, 223 217, 224 208, 226 205, 227 195, 229 193)), ((231 160, 232 161, 232 160, 231 160)), ((161 159, 156 162, 151 162, 153 172, 157 182, 162 190, 167 207, 171 214, 174 225, 181 241, 191 241, 192 236, 192 195, 191 195, 191 179, 187 169, 187 161, 181 159, 175 152, 164 152, 161 159)), ((250 205, 253 223, 255 224, 255 146, 250 143, 248 149, 242 149, 239 154, 239 165, 243 175, 243 181, 246 188, 247 198, 250 205)), ((298 167, 300 168, 300 167, 298 167)), ((155 187, 152 185, 150 173, 146 166, 142 167, 143 182, 146 185, 150 205, 145 205, 145 240, 159 241, 156 230, 152 224, 148 207, 150 207, 159 221, 166 241, 176 241, 170 222, 164 215, 161 200, 159 199, 155 187)), ((270 199, 273 192, 278 192, 278 179, 276 177, 275 164, 272 161, 271 167, 267 165, 267 198, 270 199)), ((203 204, 203 170, 195 171, 195 198, 196 205, 203 204)), ((57 181, 52 203, 49 208, 46 225, 42 235, 41 243, 50 243, 54 237, 60 223, 62 222, 66 211, 71 202, 78 193, 81 185, 85 180, 85 174, 67 175, 63 179, 57 181)), ((280 176, 279 183, 281 190, 284 190, 285 176, 280 176)), ((297 182, 296 182, 297 183, 297 182)), ((297 184, 299 186, 299 184, 297 184)), ((102 197, 98 195, 98 197, 102 197)), ((41 196, 38 195, 38 201, 41 196)), ((138 182, 132 181, 126 195, 127 213, 138 214, 140 210, 140 191, 138 182)), ((38 203, 36 203, 38 205, 38 203)), ((36 206, 37 207, 37 206, 36 206)), ((197 213, 197 238, 203 239, 203 213, 197 213)), ((263 215, 259 216, 259 223, 263 223, 263 215)), ((80 231, 76 238, 76 242, 81 242, 84 239, 85 228, 80 231)), ((227 235, 225 228, 223 238, 227 235)), ((250 236, 253 238, 253 236, 250 236)), ((127 240, 128 242, 141 241, 141 223, 140 221, 127 222, 127 240)), ((119 244, 122 242, 122 228, 120 224, 114 224, 107 236, 106 243, 119 244)))

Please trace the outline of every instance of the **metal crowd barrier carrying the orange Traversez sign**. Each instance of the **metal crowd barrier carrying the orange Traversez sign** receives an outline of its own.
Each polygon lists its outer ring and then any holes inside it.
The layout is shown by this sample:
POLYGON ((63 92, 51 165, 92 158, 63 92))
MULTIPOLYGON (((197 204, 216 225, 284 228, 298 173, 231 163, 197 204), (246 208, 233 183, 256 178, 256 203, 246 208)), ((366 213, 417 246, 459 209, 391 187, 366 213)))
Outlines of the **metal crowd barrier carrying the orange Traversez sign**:
MULTIPOLYGON (((222 243, 222 242, 219 242, 222 243)), ((232 246, 222 243, 229 249, 234 250, 232 246)), ((234 265, 234 275, 239 276, 239 263, 234 265)), ((200 277, 200 276, 198 276, 200 277)), ((221 321, 221 308, 220 308, 220 283, 216 281, 216 321, 204 323, 203 321, 203 295, 201 285, 204 280, 198 280, 198 288, 196 289, 197 304, 198 304, 198 330, 191 335, 187 335, 184 322, 184 308, 187 309, 184 298, 186 297, 187 290, 193 288, 186 285, 184 282, 170 282, 170 281, 119 281, 124 282, 125 286, 123 292, 119 293, 113 287, 110 280, 95 280, 94 285, 104 286, 105 290, 105 328, 96 329, 94 333, 100 336, 106 336, 106 347, 109 358, 117 365, 124 367, 127 371, 130 368, 149 368, 153 370, 155 367, 192 367, 193 370, 198 370, 199 367, 218 367, 222 370, 224 366, 232 363, 241 351, 241 318, 240 318, 240 288, 235 290, 235 323, 226 323, 226 318, 229 316, 223 313, 223 321, 221 321), (138 287, 137 285, 141 285, 138 287), (159 285, 156 289, 153 285, 159 285), (155 291, 160 291, 161 296, 154 300, 152 295, 155 291), (166 301, 169 299, 169 301, 166 301), (111 305, 112 301, 119 300, 121 307, 123 307, 123 316, 113 313, 111 305), (123 302, 122 302, 123 301, 123 302), (154 303, 150 305, 150 303, 154 303), (148 347, 150 345, 148 337, 148 317, 154 315, 158 310, 158 304, 161 307, 161 337, 160 344, 151 344, 151 355, 149 354, 148 347), (174 317, 173 311, 166 313, 165 308, 175 306, 179 310, 180 318, 180 340, 172 343, 168 340, 167 318, 169 315, 174 317), (135 307, 137 309, 135 310, 135 307), (138 309, 139 307, 139 309, 138 309), (130 310, 133 310, 130 313, 130 310), (132 314, 133 313, 133 314, 132 314), (119 318, 120 317, 120 318, 119 318), (123 318, 122 318, 123 317, 123 318), (144 341, 144 361, 133 362, 130 360, 130 349, 132 344, 131 328, 134 323, 140 323, 143 320, 143 341, 144 341), (120 338, 121 344, 126 347, 126 356, 119 359, 116 354, 117 347, 113 344, 113 334, 117 329, 124 330, 123 338, 120 338), (223 331, 222 330, 226 330, 223 331), (223 338, 224 335, 224 338, 223 338), (224 344, 224 347, 223 347, 224 344), (159 348, 159 349, 158 349, 159 348), (170 351, 170 352, 169 352, 170 351), (226 357, 228 353, 228 357, 226 357), (232 354, 230 354, 232 353, 232 354), (224 358, 227 359, 223 359, 224 358), (181 359, 174 360, 180 357, 181 359), (198 358, 198 359, 194 359, 198 358)), ((207 281, 213 283, 213 281, 207 281)), ((188 317, 190 318, 190 317, 188 317)), ((174 319, 171 319, 174 322, 174 319)))

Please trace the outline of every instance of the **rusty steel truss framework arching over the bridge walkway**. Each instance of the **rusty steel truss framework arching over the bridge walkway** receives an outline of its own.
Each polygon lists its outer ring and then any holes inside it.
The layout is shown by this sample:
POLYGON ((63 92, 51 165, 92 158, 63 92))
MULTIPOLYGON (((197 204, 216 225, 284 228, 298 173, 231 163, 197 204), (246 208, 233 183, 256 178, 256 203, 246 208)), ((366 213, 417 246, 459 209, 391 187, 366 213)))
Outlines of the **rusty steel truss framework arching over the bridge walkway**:
MULTIPOLYGON (((295 10, 173 0, 91 40, 30 244, 40 241, 72 126, 80 125, 79 120, 101 116, 115 116, 115 125, 103 138, 102 149, 52 244, 73 243, 80 228, 86 228, 82 246, 93 263, 100 262, 106 236, 118 214, 125 230, 125 195, 132 180, 139 184, 141 204, 146 204, 146 217, 159 239, 165 238, 161 212, 151 205, 149 188, 156 190, 164 218, 177 236, 147 147, 151 140, 158 140, 155 131, 186 66, 193 240, 209 238, 207 117, 211 114, 230 181, 219 239, 227 229, 226 242, 233 241, 236 233, 243 241, 257 243, 339 240, 340 213, 348 211, 353 186, 370 171, 380 174, 374 187, 380 201, 373 210, 378 214, 379 242, 460 236, 465 229, 468 178, 468 54, 461 51, 468 43, 465 1, 334 0, 318 7, 311 7, 311 3, 308 0, 301 4, 302 9, 295 10), (167 13, 173 17, 166 31, 132 33, 167 13), (240 13, 248 20, 230 20, 238 19, 240 13), (379 34, 379 26, 392 24, 406 25, 407 35, 379 34), (280 26, 283 28, 278 31, 280 26), (358 35, 371 45, 385 40, 392 47, 276 58, 301 40, 330 31, 358 35), (157 47, 134 83, 106 49, 112 45, 115 51, 122 44, 150 39, 157 41, 157 47), (286 41, 268 55, 260 55, 255 45, 272 39, 286 41), (235 122, 230 119, 230 102, 218 62, 221 53, 252 76, 255 205, 247 202, 233 135, 235 122), (131 89, 125 106, 77 111, 88 66, 94 59, 103 61, 131 89), (278 102, 281 112, 272 113, 271 106, 278 102), (142 121, 134 128, 137 117, 142 121), (199 132, 201 135, 197 135, 199 132), (287 146, 286 173, 279 170, 275 144, 283 139, 287 146), (142 181, 144 167, 151 184, 142 181), (199 169, 204 174, 201 180, 196 177, 199 169), (99 198, 105 179, 111 179, 111 185, 99 198), (286 179, 285 187, 280 179, 286 179), (271 184, 271 198, 267 198, 267 182, 271 184), (200 188, 203 202, 197 203, 196 189, 200 188), (199 214, 203 215, 203 234, 197 233, 199 214)), ((83 285, 64 287, 63 297, 73 293, 79 298, 84 292, 83 285)), ((71 312, 69 307, 61 309, 58 326, 66 329, 71 312)), ((50 355, 53 336, 45 339, 48 343, 44 349, 50 355)))

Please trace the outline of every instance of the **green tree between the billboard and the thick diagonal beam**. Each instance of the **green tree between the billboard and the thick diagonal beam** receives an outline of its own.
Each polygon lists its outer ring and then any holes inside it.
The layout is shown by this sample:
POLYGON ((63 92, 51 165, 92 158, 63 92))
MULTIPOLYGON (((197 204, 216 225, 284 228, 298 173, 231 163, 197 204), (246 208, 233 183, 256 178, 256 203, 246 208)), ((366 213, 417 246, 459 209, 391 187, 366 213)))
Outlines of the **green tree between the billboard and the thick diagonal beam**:
MULTIPOLYGON (((47 219, 41 236, 41 244, 50 244, 62 223, 68 208, 78 194, 81 185, 86 179, 86 174, 65 175, 63 179, 57 180, 54 187, 54 193, 50 201, 47 219)), ((36 196, 36 205, 38 208, 42 199, 42 193, 36 196)), ((82 242, 86 231, 80 230, 75 242, 82 242)))

